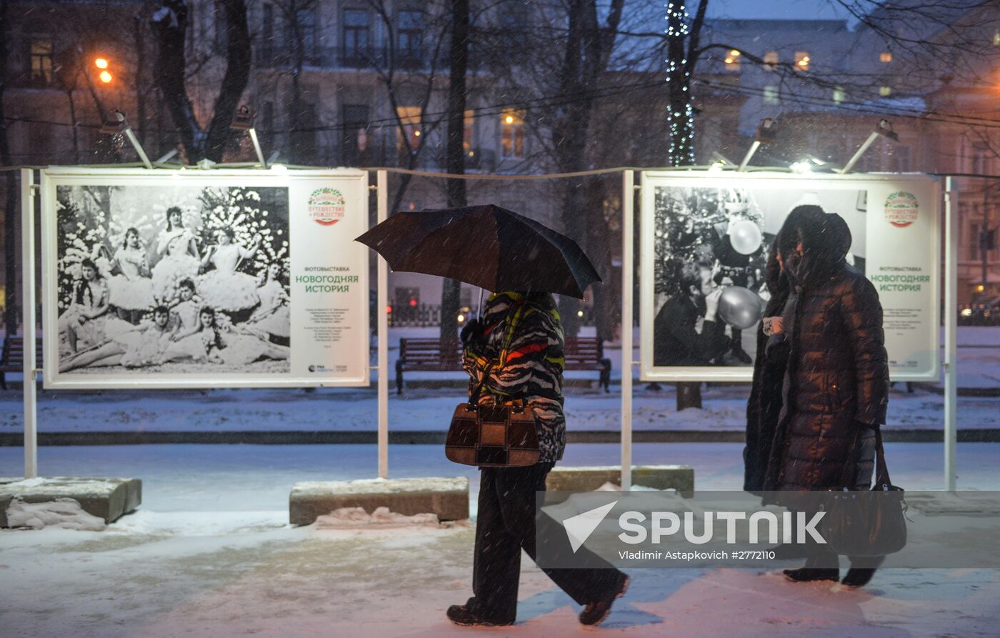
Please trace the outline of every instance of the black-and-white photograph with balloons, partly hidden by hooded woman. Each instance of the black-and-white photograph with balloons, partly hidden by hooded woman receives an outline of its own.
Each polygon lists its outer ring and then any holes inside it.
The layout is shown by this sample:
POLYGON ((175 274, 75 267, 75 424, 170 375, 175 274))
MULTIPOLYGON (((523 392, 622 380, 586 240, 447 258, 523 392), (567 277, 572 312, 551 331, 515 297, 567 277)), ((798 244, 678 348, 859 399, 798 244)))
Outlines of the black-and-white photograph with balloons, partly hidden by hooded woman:
POLYGON ((654 368, 753 365, 769 298, 768 252, 796 206, 840 214, 854 237, 848 260, 864 272, 866 191, 856 185, 806 189, 761 180, 654 192, 654 368))

